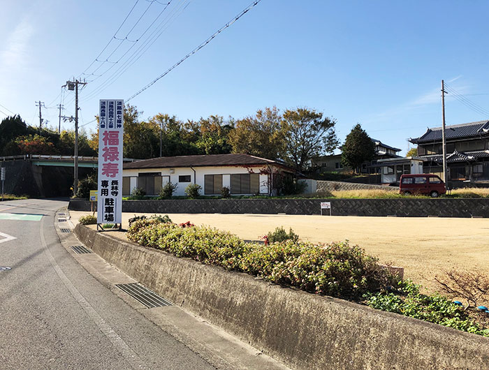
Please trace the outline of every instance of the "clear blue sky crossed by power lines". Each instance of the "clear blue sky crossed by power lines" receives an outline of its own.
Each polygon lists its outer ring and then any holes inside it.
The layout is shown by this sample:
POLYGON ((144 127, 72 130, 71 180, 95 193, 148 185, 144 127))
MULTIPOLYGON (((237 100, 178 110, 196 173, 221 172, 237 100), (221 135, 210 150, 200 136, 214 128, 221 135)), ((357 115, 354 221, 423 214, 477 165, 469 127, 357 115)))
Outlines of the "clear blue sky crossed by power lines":
MULTIPOLYGON (((134 6, 116 37, 140 22, 127 40, 112 39, 99 58, 119 63, 96 61, 81 76, 92 80, 112 67, 80 91, 80 125, 93 130, 87 122, 97 114, 98 99, 129 98, 251 0, 172 0, 161 13, 167 2, 3 1, 0 119, 12 111, 38 125, 35 101, 41 100, 43 118, 57 126, 61 85, 92 64, 134 6), (158 24, 161 36, 144 48, 158 24), (99 91, 139 47, 147 50, 99 91)), ((489 119, 488 12, 488 1, 262 0, 129 103, 143 119, 163 112, 183 120, 307 106, 337 120, 342 142, 360 123, 372 138, 405 153, 407 138, 441 125, 442 79, 479 107, 448 94, 447 124, 489 119)), ((64 94, 64 105, 63 114, 73 115, 73 92, 64 94)))

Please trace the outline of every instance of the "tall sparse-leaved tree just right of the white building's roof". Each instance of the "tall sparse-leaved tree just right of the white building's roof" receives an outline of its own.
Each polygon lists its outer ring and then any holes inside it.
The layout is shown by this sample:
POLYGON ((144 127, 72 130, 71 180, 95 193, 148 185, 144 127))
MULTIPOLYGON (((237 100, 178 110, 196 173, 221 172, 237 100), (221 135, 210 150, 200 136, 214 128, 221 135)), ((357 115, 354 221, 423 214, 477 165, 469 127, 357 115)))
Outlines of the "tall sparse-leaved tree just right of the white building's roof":
POLYGON ((336 121, 314 109, 286 110, 282 119, 285 138, 285 160, 299 171, 309 167, 311 159, 333 153, 339 142, 336 121))

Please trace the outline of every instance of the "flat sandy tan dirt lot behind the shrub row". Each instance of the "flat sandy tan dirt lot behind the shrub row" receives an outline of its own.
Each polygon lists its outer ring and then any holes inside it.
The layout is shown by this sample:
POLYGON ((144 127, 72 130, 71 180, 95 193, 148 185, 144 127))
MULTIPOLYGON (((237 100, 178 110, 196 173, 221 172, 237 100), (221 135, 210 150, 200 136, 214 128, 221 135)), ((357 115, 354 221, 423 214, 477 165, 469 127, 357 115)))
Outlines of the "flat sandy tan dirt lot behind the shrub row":
MULTIPOLYGON (((70 212, 72 221, 88 212, 70 212)), ((123 214, 123 228, 134 214, 123 214)), ((277 226, 311 242, 349 240, 381 262, 404 267, 404 276, 436 290, 436 274, 451 268, 489 274, 489 220, 437 217, 294 216, 267 214, 169 214, 256 240, 277 226)), ((119 235, 124 237, 124 235, 119 235)))

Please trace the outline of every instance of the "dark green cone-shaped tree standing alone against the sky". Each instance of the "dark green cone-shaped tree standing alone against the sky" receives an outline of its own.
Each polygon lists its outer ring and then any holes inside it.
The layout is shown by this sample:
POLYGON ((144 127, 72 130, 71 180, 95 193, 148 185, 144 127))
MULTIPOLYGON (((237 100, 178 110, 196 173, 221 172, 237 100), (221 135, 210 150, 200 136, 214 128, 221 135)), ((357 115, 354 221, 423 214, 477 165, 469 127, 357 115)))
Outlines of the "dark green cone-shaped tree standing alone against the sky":
POLYGON ((346 140, 342 146, 342 163, 358 173, 362 163, 371 161, 374 156, 375 143, 362 126, 356 124, 351 132, 346 135, 346 140))

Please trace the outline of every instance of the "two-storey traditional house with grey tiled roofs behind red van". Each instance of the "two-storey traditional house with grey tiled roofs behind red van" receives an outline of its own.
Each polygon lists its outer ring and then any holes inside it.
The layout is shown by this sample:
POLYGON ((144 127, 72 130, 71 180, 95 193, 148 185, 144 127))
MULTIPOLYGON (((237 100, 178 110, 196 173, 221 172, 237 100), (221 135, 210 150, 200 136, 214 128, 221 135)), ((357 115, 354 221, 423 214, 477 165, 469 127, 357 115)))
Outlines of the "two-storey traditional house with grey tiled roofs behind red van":
MULTIPOLYGON (((446 126, 447 178, 451 182, 489 182, 489 121, 446 126)), ((423 158, 423 172, 443 172, 441 127, 428 128, 419 138, 409 140, 418 145, 423 158)))

